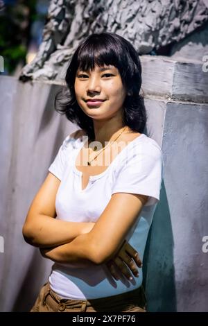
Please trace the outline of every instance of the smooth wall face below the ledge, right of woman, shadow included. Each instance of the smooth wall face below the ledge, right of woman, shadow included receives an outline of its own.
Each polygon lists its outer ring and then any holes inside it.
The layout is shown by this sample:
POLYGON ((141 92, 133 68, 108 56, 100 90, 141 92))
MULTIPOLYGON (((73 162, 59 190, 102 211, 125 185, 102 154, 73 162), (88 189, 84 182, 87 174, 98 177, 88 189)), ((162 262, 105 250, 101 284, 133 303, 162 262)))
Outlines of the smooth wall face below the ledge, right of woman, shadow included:
POLYGON ((208 311, 208 105, 157 106, 165 111, 164 182, 146 248, 148 309, 208 311))

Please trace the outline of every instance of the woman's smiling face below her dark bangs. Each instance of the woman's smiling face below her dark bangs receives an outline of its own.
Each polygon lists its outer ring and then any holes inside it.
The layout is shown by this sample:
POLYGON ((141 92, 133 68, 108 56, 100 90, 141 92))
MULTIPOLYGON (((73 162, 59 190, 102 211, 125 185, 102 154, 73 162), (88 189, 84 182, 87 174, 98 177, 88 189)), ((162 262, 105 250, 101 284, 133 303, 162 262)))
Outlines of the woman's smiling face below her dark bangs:
POLYGON ((76 73, 74 84, 80 108, 93 119, 122 115, 126 90, 119 70, 110 65, 76 73))

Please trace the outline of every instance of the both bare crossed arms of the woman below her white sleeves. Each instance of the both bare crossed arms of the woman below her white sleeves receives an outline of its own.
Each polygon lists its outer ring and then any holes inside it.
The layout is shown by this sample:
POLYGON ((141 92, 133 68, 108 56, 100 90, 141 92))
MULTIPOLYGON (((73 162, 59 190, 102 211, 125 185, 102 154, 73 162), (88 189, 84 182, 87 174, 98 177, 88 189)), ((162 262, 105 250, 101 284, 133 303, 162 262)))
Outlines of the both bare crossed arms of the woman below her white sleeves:
MULTIPOLYGON (((113 194, 96 224, 67 222, 55 219, 55 195, 59 185, 60 180, 49 173, 28 211, 24 239, 42 248, 42 255, 54 261, 85 266, 86 263, 110 264, 114 257, 118 264, 122 259, 132 260, 130 255, 135 255, 135 250, 125 243, 125 236, 147 196, 113 194)), ((139 257, 135 257, 135 261, 137 266, 141 264, 139 257)))

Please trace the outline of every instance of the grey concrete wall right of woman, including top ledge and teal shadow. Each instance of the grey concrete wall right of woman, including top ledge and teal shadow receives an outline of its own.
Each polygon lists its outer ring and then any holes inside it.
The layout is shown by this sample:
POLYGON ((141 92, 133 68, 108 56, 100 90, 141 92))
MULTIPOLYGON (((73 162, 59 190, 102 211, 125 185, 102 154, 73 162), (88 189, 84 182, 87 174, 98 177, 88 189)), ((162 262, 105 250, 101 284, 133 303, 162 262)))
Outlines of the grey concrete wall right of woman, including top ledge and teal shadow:
POLYGON ((163 124, 164 155, 161 199, 146 247, 148 310, 208 311, 208 252, 202 251, 208 235, 208 73, 202 61, 141 60, 148 130, 163 124))

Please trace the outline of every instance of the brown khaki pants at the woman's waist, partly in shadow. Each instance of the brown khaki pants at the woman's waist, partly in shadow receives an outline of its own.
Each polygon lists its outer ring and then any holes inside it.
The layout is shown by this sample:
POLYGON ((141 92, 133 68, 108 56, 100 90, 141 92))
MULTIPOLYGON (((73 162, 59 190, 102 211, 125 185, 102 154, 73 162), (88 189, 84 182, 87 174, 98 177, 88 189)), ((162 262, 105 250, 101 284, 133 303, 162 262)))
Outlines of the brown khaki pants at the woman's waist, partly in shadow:
POLYGON ((146 312, 146 297, 141 286, 134 291, 89 300, 67 300, 44 284, 31 312, 146 312))

